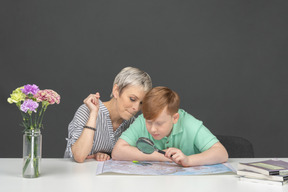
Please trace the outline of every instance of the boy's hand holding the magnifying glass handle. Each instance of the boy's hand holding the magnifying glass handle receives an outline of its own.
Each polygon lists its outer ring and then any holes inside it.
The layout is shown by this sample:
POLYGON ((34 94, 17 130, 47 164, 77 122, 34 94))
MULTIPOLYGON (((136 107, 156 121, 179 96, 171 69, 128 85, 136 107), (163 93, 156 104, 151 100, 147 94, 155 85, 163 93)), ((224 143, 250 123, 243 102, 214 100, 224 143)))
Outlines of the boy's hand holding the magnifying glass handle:
POLYGON ((165 157, 171 159, 175 163, 182 165, 183 167, 189 166, 189 158, 184 155, 180 149, 169 148, 166 150, 165 157))

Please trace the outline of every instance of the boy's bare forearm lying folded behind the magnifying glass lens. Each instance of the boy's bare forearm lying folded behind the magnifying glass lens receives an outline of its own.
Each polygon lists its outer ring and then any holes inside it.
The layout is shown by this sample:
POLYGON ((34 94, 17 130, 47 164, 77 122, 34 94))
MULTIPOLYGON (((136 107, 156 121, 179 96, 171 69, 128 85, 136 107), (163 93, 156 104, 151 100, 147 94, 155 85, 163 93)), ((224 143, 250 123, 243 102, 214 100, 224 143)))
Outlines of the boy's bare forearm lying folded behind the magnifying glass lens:
POLYGON ((112 159, 122 161, 170 161, 170 159, 156 151, 152 154, 144 154, 121 138, 118 139, 114 146, 112 159))

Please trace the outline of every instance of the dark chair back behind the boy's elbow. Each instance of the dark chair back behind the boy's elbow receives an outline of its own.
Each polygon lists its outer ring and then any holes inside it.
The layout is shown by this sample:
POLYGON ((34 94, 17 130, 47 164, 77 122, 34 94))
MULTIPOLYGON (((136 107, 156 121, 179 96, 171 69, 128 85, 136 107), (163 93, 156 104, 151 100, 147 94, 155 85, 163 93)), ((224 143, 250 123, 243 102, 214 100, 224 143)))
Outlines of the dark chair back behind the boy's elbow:
POLYGON ((250 141, 238 136, 216 135, 226 148, 229 158, 253 158, 254 149, 250 141))

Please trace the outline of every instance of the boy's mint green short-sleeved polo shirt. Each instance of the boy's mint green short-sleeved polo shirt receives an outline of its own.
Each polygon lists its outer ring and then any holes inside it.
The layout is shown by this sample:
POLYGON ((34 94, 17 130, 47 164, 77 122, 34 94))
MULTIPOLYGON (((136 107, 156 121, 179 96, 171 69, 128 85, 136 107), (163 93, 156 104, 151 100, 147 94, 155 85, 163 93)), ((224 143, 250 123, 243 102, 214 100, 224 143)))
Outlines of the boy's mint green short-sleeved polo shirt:
POLYGON ((161 140, 153 139, 146 129, 142 114, 122 133, 120 138, 135 147, 139 137, 147 137, 160 150, 174 147, 180 149, 187 156, 206 151, 218 142, 218 139, 203 125, 202 121, 182 109, 179 109, 178 113, 179 120, 174 124, 168 137, 161 140))

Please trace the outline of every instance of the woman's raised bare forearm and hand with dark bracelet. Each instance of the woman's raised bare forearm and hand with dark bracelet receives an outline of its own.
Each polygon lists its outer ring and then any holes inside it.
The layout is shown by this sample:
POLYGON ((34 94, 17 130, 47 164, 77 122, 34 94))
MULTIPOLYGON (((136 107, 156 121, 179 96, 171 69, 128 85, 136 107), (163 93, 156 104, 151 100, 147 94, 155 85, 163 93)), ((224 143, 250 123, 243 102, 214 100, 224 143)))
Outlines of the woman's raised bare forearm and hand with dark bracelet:
MULTIPOLYGON (((99 98, 100 94, 90 94, 84 103, 90 110, 89 119, 86 123, 87 126, 96 128, 96 121, 99 111, 99 98)), ((74 160, 78 163, 85 161, 93 147, 94 130, 84 128, 78 140, 72 145, 72 153, 74 160)))

